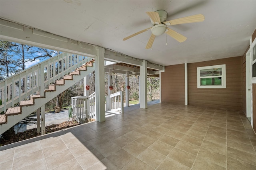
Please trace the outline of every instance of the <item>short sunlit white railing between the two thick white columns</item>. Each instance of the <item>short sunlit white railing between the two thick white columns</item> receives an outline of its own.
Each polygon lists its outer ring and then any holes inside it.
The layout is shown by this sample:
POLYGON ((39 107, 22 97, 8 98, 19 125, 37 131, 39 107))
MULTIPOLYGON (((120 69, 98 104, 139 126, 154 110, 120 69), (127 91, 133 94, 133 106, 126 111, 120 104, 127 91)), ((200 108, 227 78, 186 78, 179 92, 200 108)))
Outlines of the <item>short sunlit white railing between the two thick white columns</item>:
POLYGON ((106 110, 107 111, 121 111, 124 113, 124 92, 116 92, 106 97, 106 110))

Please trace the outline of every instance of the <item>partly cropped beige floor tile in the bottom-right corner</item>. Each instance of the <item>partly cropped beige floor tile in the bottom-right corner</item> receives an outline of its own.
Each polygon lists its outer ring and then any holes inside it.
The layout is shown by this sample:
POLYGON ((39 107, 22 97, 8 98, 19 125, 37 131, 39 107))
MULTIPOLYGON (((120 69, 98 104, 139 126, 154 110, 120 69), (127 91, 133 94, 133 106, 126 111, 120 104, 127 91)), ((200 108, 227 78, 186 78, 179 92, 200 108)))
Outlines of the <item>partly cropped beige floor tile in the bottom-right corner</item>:
POLYGON ((227 156, 227 168, 230 170, 256 170, 256 165, 248 164, 244 161, 227 156))

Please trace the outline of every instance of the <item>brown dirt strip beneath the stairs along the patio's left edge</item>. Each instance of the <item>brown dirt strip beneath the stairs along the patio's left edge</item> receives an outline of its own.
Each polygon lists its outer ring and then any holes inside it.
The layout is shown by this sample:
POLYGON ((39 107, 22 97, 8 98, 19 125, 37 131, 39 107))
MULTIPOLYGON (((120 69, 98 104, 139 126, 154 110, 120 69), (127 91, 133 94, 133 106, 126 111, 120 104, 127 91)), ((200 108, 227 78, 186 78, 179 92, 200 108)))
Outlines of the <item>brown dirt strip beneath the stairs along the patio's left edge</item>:
MULTIPOLYGON (((46 133, 59 131, 61 129, 66 129, 68 127, 72 127, 72 126, 76 126, 76 125, 80 125, 80 123, 77 121, 64 121, 60 124, 46 126, 46 133)), ((0 146, 8 145, 8 144, 15 143, 18 141, 23 141, 25 139, 30 139, 32 137, 37 137, 40 135, 41 135, 41 132, 37 133, 36 128, 29 129, 24 132, 19 132, 17 134, 15 134, 14 131, 11 129, 2 134, 2 137, 0 139, 0 146)))

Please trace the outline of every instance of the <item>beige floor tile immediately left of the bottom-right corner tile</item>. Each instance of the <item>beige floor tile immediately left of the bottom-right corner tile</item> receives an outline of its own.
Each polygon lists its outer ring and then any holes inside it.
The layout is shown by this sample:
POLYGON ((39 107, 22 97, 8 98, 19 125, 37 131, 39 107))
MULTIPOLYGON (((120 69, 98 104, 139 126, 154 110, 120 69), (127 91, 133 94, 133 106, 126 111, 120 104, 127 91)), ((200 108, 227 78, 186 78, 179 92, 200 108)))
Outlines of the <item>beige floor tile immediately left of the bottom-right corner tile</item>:
POLYGON ((204 149, 201 147, 196 159, 201 159, 201 160, 204 159, 204 160, 207 160, 208 162, 212 162, 214 164, 217 164, 219 166, 226 168, 226 164, 227 164, 226 157, 227 156, 224 154, 219 154, 212 150, 204 149))

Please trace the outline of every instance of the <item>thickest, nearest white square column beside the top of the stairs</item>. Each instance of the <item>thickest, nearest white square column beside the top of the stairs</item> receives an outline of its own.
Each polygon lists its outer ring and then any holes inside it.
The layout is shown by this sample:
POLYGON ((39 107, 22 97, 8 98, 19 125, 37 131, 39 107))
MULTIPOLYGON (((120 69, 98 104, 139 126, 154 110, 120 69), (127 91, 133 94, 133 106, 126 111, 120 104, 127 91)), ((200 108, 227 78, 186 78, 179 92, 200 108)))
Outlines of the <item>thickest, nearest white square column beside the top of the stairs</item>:
POLYGON ((96 47, 95 57, 95 94, 96 94, 96 119, 99 122, 105 121, 105 81, 104 81, 104 52, 102 47, 96 47))

